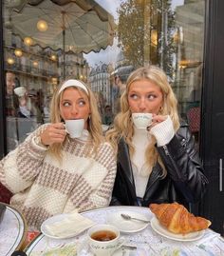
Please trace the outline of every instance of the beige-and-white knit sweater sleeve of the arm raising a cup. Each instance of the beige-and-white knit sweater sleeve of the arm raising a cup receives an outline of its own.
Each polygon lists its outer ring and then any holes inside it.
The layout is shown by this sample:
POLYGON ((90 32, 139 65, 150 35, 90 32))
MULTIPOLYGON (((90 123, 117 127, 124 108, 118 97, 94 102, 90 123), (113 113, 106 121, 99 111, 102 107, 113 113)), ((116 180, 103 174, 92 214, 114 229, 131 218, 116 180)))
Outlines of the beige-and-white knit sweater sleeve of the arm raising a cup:
POLYGON ((33 183, 42 168, 47 148, 35 144, 38 136, 47 125, 33 131, 17 148, 0 161, 0 181, 12 193, 20 192, 33 183))

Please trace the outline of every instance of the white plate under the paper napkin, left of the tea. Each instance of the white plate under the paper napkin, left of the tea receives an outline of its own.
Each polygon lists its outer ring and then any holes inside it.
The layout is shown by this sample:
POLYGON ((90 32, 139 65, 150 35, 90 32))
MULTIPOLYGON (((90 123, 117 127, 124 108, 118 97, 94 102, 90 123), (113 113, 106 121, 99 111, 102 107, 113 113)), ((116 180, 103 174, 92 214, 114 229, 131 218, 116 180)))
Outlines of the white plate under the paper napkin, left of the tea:
MULTIPOLYGON (((82 233, 85 229, 89 228, 90 226, 86 226, 84 227, 82 230, 80 230, 79 232, 77 232, 77 230, 74 228, 74 233, 70 233, 69 235, 65 235, 65 236, 55 236, 55 235, 52 235, 51 233, 49 233, 49 231, 47 230, 47 225, 52 225, 56 222, 60 222, 60 221, 63 221, 65 220, 65 218, 68 217, 68 213, 63 213, 63 214, 58 214, 58 215, 55 215, 55 216, 52 216, 50 218, 48 218, 41 226, 41 232, 46 235, 47 237, 50 237, 50 238, 54 238, 54 239, 65 239, 65 238, 71 238, 71 237, 74 237, 80 233, 82 233)), ((92 226, 92 225, 91 225, 92 226)))

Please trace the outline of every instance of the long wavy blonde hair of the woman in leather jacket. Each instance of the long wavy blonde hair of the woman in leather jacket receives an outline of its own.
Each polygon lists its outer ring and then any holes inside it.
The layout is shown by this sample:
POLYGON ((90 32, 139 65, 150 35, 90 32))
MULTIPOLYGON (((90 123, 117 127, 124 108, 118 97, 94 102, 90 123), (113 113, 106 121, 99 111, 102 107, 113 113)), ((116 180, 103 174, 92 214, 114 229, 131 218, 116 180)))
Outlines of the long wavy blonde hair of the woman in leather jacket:
MULTIPOLYGON (((170 115, 175 131, 177 131, 179 128, 177 98, 173 92, 173 89, 168 83, 167 76, 164 71, 153 65, 147 68, 136 69, 129 75, 127 79, 126 89, 121 95, 121 111, 114 119, 114 127, 109 129, 106 133, 106 140, 111 143, 116 151, 118 151, 118 144, 122 137, 128 145, 131 157, 135 152, 135 148, 132 144, 134 125, 131 118, 132 112, 128 104, 128 92, 133 82, 140 81, 142 79, 149 80, 159 87, 163 96, 162 107, 159 110, 159 114, 170 115)), ((157 161, 159 161, 159 164, 163 169, 163 176, 165 176, 166 170, 161 162, 159 153, 155 148, 155 144, 156 139, 154 136, 152 136, 151 143, 148 145, 145 151, 146 164, 150 167, 154 167, 157 161)))

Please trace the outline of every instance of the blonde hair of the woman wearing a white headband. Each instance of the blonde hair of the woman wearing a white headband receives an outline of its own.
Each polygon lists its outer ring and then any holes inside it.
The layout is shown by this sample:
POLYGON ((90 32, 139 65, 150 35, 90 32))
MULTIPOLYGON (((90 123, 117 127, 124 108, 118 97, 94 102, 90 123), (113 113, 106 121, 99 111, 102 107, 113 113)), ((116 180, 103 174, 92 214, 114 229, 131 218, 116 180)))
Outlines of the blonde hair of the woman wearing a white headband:
MULTIPOLYGON (((100 144, 103 142, 103 128, 102 128, 101 115, 98 110, 96 98, 93 92, 91 91, 91 89, 89 89, 84 83, 83 84, 86 87, 88 93, 86 93, 84 89, 76 87, 75 85, 71 87, 67 87, 59 93, 60 89, 64 84, 65 82, 62 83, 62 85, 54 91, 51 104, 50 104, 50 122, 60 123, 64 121, 61 116, 60 102, 62 100, 62 95, 65 89, 74 88, 74 89, 78 89, 79 91, 82 91, 86 95, 89 101, 89 107, 91 112, 87 120, 87 129, 92 138, 92 145, 94 147, 92 151, 97 152, 97 149, 99 148, 100 144)), ((63 144, 55 143, 52 146, 50 146, 49 150, 51 153, 53 153, 55 156, 61 159, 62 158, 61 152, 64 144, 65 142, 63 144)))

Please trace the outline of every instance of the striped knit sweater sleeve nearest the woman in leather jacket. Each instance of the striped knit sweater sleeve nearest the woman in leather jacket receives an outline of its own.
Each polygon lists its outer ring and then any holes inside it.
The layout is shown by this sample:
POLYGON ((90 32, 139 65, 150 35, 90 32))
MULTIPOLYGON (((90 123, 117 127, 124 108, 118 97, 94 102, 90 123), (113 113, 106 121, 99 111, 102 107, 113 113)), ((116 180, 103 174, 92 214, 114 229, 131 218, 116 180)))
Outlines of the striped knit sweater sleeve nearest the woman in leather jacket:
POLYGON ((117 164, 115 153, 108 144, 106 151, 104 165, 106 166, 107 173, 100 186, 97 187, 84 202, 80 211, 109 206, 116 177, 117 164))

